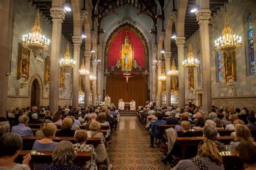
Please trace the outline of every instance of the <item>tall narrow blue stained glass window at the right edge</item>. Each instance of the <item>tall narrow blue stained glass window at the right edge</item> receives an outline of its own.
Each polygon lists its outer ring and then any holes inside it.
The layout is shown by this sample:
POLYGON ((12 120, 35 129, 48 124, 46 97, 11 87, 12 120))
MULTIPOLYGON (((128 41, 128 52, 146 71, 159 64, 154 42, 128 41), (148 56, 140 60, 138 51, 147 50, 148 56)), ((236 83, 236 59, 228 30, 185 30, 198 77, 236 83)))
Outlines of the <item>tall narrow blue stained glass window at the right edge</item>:
POLYGON ((254 61, 254 52, 253 52, 253 26, 252 26, 252 13, 248 12, 246 17, 247 25, 247 50, 248 50, 248 68, 249 74, 255 74, 255 61, 254 61))

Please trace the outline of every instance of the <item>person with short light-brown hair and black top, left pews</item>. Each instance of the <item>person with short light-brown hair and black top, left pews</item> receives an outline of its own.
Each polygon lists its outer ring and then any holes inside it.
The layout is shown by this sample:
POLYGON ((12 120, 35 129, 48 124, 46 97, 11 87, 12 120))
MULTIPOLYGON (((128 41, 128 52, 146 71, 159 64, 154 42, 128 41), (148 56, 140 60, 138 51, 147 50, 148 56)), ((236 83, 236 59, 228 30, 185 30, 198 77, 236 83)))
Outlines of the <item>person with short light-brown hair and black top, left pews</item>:
POLYGON ((72 128, 72 119, 64 118, 62 121, 62 129, 58 130, 56 133, 57 137, 74 137, 75 131, 71 130, 72 128))

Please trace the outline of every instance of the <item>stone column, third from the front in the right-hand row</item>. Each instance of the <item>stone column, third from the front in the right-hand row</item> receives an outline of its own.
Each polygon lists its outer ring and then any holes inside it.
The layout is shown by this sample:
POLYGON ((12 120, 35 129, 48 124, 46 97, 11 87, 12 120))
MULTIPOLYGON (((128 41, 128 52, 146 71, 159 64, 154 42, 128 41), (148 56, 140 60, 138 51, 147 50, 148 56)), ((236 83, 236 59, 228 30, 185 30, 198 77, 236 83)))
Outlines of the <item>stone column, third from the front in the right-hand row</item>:
POLYGON ((170 71, 171 67, 171 55, 172 52, 165 52, 165 75, 166 75, 166 106, 171 106, 171 77, 167 76, 167 73, 170 71))

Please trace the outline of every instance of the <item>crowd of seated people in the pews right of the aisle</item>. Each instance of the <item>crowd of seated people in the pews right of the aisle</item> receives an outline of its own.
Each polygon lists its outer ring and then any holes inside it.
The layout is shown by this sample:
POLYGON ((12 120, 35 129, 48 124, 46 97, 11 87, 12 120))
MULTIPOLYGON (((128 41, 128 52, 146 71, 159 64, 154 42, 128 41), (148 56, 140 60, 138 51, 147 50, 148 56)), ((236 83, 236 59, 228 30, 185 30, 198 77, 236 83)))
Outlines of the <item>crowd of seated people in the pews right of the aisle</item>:
POLYGON ((138 108, 137 118, 150 135, 150 147, 158 145, 166 154, 160 157, 161 161, 176 165, 173 169, 224 169, 220 154, 223 151, 238 151, 243 168, 256 169, 254 111, 212 106, 207 116, 203 117, 202 112, 202 107, 191 103, 185 108, 146 105, 138 108), (230 141, 224 144, 221 137, 227 137, 227 134, 230 141), (181 158, 183 146, 180 146, 179 139, 199 136, 205 138, 196 147, 184 150, 185 156, 181 158), (242 147, 246 148, 243 150, 242 147))

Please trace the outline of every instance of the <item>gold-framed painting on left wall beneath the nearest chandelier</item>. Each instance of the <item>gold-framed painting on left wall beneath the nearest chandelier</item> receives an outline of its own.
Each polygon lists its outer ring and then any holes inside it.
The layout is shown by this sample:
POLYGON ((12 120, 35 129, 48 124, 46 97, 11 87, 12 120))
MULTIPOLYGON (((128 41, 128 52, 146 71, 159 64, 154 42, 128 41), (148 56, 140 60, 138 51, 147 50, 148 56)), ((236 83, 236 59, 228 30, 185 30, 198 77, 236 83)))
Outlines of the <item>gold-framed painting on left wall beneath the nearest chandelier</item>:
POLYGON ((30 66, 30 49, 24 48, 21 43, 19 43, 18 48, 18 68, 17 68, 17 80, 21 77, 25 78, 25 81, 29 79, 29 68, 30 66))

